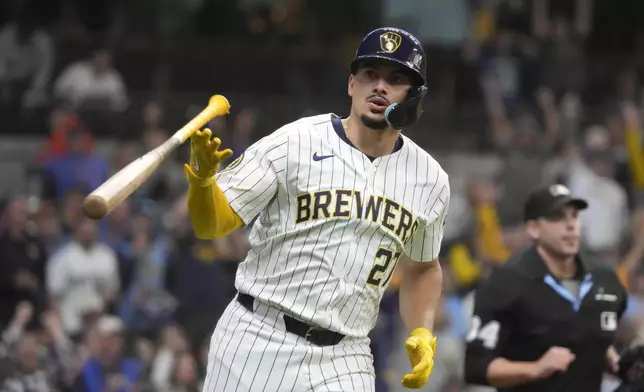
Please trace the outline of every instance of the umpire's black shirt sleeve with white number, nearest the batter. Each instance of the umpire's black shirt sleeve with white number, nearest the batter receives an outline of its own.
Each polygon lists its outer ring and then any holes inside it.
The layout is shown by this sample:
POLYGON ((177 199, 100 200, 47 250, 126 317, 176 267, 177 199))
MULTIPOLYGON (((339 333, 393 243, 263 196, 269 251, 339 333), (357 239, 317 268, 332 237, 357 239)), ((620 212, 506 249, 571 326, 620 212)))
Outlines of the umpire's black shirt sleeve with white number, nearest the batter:
POLYGON ((512 327, 512 307, 516 299, 514 276, 497 267, 474 294, 474 312, 465 338, 465 380, 488 385, 490 363, 502 357, 512 327))

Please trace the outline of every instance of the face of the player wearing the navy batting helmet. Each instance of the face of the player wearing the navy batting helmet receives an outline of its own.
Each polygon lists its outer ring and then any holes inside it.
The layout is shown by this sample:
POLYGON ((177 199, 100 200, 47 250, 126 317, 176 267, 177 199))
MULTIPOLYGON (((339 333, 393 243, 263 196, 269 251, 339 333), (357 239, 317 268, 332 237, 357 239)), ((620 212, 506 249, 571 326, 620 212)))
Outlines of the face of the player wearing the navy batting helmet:
POLYGON ((410 88, 411 78, 401 66, 387 61, 366 63, 349 77, 351 114, 371 129, 386 129, 385 110, 404 101, 410 88))

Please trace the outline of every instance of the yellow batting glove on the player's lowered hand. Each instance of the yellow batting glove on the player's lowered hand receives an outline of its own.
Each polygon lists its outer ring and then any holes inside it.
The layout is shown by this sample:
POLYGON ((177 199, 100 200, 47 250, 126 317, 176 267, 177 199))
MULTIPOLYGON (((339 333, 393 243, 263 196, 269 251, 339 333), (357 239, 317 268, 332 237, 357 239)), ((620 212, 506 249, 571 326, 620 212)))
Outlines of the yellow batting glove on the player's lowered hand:
POLYGON ((417 328, 407 338, 405 349, 413 372, 405 374, 402 385, 410 389, 422 388, 434 369, 436 337, 426 328, 417 328))

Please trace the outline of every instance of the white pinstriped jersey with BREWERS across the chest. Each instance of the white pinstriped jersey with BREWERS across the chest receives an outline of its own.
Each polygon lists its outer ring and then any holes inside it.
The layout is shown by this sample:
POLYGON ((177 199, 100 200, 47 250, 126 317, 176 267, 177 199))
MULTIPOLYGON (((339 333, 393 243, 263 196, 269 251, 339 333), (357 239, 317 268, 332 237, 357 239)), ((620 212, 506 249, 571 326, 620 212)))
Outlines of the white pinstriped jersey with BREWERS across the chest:
POLYGON ((334 123, 325 114, 285 125, 231 162, 217 183, 252 224, 237 289, 364 337, 400 255, 437 258, 450 188, 445 171, 409 138, 372 161, 334 123))

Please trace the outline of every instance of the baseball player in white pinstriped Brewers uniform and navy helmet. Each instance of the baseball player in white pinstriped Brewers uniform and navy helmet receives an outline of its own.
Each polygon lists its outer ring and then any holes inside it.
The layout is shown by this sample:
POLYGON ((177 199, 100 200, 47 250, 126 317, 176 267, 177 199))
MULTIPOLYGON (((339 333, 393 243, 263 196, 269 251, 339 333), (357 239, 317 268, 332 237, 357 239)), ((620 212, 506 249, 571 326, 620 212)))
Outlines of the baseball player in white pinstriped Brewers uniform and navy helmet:
POLYGON ((425 384, 450 198, 445 171, 401 135, 422 112, 425 68, 415 37, 379 28, 351 64, 348 117, 287 124, 216 176, 232 151, 210 130, 192 137, 185 173, 196 235, 251 228, 204 391, 373 391, 368 334, 397 265, 411 331, 402 384, 425 384))

